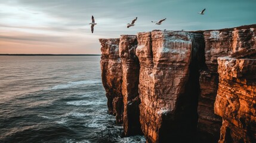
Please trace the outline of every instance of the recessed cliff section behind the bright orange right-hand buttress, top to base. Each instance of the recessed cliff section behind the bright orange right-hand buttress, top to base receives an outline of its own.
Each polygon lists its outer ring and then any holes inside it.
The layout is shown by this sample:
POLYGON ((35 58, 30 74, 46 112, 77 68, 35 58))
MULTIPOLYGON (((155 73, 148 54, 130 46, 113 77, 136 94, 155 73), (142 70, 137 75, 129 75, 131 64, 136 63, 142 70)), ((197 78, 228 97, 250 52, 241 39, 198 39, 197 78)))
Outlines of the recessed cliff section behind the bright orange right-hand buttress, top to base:
POLYGON ((198 102, 198 130, 201 142, 217 142, 222 119, 214 114, 214 101, 218 90, 218 57, 249 57, 255 55, 255 26, 245 29, 222 29, 203 32, 205 63, 201 71, 201 94, 198 102))

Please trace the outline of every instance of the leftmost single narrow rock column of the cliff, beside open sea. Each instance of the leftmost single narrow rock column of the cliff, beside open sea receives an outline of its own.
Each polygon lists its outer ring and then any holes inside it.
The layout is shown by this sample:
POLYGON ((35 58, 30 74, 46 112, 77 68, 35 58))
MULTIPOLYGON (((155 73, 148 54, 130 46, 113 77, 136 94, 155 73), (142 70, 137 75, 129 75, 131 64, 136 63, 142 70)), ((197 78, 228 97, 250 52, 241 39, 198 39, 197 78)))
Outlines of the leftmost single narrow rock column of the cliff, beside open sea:
POLYGON ((101 77, 106 90, 109 113, 122 123, 124 103, 122 97, 122 63, 119 57, 119 39, 100 39, 101 77))

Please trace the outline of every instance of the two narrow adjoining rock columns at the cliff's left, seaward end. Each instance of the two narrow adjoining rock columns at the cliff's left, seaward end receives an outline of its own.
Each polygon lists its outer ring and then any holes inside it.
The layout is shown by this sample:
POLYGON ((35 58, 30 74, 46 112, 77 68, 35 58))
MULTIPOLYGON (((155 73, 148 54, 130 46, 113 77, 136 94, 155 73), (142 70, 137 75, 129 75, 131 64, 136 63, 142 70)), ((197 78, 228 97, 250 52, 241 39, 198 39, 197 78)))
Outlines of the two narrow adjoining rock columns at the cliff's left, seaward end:
POLYGON ((135 55, 137 37, 122 35, 120 39, 100 39, 101 77, 106 90, 109 113, 123 123, 124 135, 141 133, 139 122, 140 98, 138 76, 140 64, 135 55))

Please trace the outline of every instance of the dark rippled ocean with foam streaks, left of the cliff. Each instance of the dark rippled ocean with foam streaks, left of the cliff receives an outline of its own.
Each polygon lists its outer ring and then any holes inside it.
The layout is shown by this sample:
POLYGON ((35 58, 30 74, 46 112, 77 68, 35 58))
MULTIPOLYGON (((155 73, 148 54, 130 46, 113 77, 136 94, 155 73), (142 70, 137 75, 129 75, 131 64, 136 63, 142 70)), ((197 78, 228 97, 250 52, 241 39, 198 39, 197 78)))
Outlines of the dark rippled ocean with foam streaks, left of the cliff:
POLYGON ((0 142, 145 142, 107 114, 100 56, 0 56, 0 142))

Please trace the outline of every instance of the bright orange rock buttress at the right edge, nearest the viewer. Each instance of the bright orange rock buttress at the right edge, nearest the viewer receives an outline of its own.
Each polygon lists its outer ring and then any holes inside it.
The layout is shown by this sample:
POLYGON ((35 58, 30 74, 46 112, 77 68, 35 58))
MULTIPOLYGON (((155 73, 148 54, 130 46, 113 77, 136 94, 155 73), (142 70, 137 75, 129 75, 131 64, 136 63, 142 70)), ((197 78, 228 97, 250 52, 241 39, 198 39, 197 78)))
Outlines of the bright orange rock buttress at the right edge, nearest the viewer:
POLYGON ((223 117, 219 142, 256 142, 256 60, 218 58, 214 111, 223 117))

